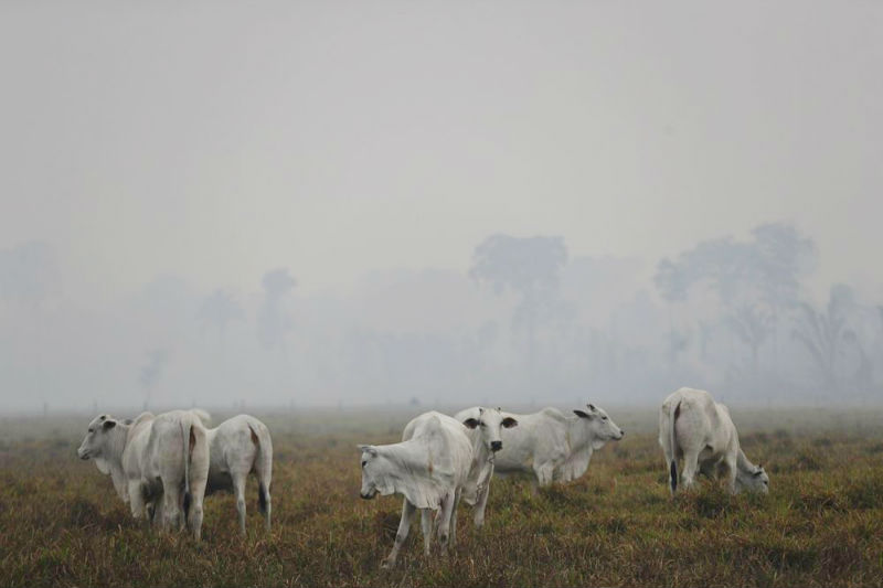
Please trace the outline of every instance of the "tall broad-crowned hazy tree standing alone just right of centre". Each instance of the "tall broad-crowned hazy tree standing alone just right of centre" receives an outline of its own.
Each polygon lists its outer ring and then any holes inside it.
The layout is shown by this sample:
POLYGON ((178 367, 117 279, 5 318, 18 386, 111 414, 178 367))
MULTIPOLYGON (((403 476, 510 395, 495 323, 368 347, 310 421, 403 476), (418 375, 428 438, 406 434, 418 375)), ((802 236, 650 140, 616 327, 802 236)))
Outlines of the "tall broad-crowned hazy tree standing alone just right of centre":
POLYGON ((532 366, 536 353, 536 329, 543 310, 555 301, 561 268, 567 261, 562 237, 512 237, 492 235, 472 254, 469 275, 489 284, 493 291, 511 290, 520 297, 512 323, 523 329, 528 362, 532 366))

